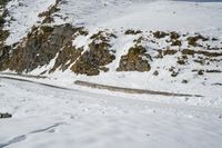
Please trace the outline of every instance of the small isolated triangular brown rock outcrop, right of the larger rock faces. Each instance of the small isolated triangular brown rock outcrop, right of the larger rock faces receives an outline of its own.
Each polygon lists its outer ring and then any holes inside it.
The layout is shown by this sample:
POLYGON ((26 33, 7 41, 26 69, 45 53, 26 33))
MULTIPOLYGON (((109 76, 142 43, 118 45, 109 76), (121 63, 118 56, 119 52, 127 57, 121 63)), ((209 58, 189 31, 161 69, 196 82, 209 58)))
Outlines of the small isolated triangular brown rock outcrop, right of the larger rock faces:
POLYGON ((129 49, 128 55, 122 56, 117 71, 150 71, 150 55, 142 46, 135 46, 129 49))

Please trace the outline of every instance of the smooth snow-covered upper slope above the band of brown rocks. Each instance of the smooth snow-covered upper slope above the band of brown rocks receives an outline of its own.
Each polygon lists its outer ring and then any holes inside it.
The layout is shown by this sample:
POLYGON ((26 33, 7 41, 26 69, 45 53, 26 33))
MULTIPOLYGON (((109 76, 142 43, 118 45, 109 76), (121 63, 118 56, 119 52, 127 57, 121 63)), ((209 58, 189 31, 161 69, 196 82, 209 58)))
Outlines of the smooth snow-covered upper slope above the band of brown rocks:
MULTIPOLYGON (((10 24, 11 37, 21 38, 56 0, 12 1, 8 9, 16 20, 10 24), (36 6, 34 8, 32 6, 36 6), (29 20, 29 21, 27 21, 29 20), (19 29, 18 29, 19 28, 19 29), (14 34, 16 33, 16 34, 14 34)), ((88 29, 142 29, 201 32, 221 38, 221 2, 159 0, 65 0, 53 16, 54 23, 72 23, 88 29)), ((13 42, 13 40, 9 43, 13 42)), ((18 40, 14 40, 18 41, 18 40)))

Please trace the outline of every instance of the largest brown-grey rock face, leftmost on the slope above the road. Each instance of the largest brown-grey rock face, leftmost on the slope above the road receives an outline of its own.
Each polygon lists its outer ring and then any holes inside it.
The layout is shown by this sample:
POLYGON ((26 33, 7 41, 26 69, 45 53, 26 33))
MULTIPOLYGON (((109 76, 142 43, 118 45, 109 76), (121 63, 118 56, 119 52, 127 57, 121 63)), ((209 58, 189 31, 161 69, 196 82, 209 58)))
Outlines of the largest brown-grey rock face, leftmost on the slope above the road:
MULTIPOLYGON (((12 50, 10 58, 0 69, 11 69, 17 72, 29 72, 48 65, 57 52, 71 39, 74 29, 69 26, 56 26, 54 28, 33 28, 28 38, 12 50)), ((2 62, 2 61, 1 61, 2 62)))

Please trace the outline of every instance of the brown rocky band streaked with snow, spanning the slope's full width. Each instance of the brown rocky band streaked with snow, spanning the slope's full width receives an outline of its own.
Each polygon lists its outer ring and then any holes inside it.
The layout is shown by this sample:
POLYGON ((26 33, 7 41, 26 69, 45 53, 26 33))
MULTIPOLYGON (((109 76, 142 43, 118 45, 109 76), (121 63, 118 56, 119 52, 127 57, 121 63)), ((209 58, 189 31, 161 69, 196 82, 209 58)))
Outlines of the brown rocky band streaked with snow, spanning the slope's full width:
MULTIPOLYGON (((71 70, 77 75, 97 76, 101 71, 108 72, 109 65, 115 61, 119 63, 115 67, 119 72, 145 72, 151 69, 157 70, 158 67, 152 65, 170 56, 171 59, 176 59, 176 62, 165 70, 172 77, 176 77, 181 69, 191 62, 205 66, 222 61, 220 40, 200 33, 127 30, 121 36, 133 37, 132 46, 125 53, 117 55, 118 50, 122 50, 114 45, 117 40, 121 40, 119 36, 109 30, 99 30, 90 34, 85 28, 68 23, 33 27, 21 42, 1 47, 0 70, 10 69, 19 73, 28 73, 51 65, 41 75, 56 70, 71 70), (79 38, 85 40, 81 46, 77 43, 79 38), (216 46, 213 46, 213 42, 216 42, 216 46)), ((193 69, 191 69, 192 72, 193 69)), ((208 70, 200 69, 199 71, 208 70)), ((221 71, 216 67, 210 70, 221 71)), ((158 70, 154 73, 158 76, 158 70)))

